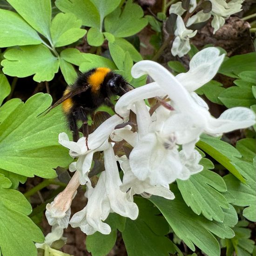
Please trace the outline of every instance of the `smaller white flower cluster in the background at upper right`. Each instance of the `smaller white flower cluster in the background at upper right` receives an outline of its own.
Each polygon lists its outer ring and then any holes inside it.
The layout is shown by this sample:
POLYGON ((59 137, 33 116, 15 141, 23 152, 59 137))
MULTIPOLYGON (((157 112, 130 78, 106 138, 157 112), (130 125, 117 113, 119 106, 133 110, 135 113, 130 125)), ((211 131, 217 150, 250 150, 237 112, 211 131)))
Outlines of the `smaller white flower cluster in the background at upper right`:
MULTIPOLYGON (((182 8, 182 2, 177 2, 171 5, 169 13, 178 15, 176 20, 175 39, 171 49, 171 53, 174 56, 178 55, 179 57, 182 57, 190 50, 189 38, 194 37, 197 31, 187 29, 186 27, 209 20, 211 15, 213 15, 211 26, 214 28, 213 34, 215 34, 216 31, 224 25, 226 18, 229 18, 230 15, 242 10, 243 0, 230 0, 228 2, 226 0, 209 1, 212 5, 211 11, 209 13, 204 13, 203 10, 201 10, 192 15, 187 20, 186 26, 181 17, 182 14, 186 12, 186 10, 182 8)), ((189 13, 192 13, 196 7, 196 1, 190 0, 190 6, 189 13)))

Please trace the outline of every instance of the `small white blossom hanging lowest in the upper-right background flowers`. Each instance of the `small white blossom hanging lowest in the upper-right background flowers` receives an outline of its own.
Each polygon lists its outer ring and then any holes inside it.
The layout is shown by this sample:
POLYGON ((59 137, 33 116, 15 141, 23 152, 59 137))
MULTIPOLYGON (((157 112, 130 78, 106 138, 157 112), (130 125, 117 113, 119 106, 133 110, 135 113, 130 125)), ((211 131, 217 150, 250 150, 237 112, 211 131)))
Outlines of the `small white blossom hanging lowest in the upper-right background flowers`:
POLYGON ((197 30, 193 31, 187 29, 180 15, 177 16, 176 29, 175 29, 175 39, 173 41, 171 53, 179 57, 184 56, 190 50, 189 38, 194 37, 197 30))

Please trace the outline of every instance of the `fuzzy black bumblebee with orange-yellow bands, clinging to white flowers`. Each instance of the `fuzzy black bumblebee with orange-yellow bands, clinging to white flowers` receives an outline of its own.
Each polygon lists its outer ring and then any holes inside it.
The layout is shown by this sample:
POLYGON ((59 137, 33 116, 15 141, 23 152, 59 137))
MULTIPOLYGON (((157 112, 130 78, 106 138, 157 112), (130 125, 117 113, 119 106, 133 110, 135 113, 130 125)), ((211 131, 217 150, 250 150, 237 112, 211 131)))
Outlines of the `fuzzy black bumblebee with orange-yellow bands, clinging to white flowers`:
MULTIPOLYGON (((62 103, 62 109, 67 117, 73 141, 79 139, 77 121, 82 121, 82 133, 88 137, 88 115, 92 115, 96 108, 107 105, 114 108, 110 101, 112 95, 121 96, 133 87, 125 79, 107 67, 97 67, 80 74, 72 86, 67 86, 63 96, 47 113, 62 103)), ((87 139, 86 139, 86 145, 87 139)))

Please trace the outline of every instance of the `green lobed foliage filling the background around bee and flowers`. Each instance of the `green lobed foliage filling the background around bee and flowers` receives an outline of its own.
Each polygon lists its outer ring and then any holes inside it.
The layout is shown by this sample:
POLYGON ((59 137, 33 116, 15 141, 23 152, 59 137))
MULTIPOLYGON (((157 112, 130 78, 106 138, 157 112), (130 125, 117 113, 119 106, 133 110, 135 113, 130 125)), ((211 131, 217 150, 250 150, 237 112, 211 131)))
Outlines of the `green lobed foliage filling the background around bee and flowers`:
MULTIPOLYGON (((61 73, 72 84, 77 70, 104 66, 140 86, 146 78, 133 79, 130 74, 134 62, 143 59, 136 34, 149 22, 155 31, 151 44, 157 49, 162 24, 151 15, 143 17, 142 8, 132 0, 56 0, 58 9, 50 0, 7 2, 7 9, 0 9, 0 105, 4 102, 0 107, 0 255, 34 256, 33 242, 44 241, 36 225, 41 218, 31 215, 36 224, 29 218, 32 208, 19 192, 19 184, 34 175, 49 179, 45 184, 50 184, 57 176, 54 169, 67 167, 72 159, 58 143, 58 134, 66 130, 60 108, 39 116, 51 105, 51 96, 35 94, 25 103, 17 98, 6 100, 11 93, 8 80, 33 75, 36 82, 52 81, 61 73), (75 48, 86 34, 92 53, 75 48), (101 46, 106 42, 109 52, 104 55, 101 46)), ((197 51, 192 46, 190 59, 197 51)), ((179 61, 168 65, 175 74, 187 70, 179 61)), ((224 88, 212 80, 197 93, 226 108, 243 106, 256 111, 255 67, 255 53, 226 57, 219 73, 235 78, 234 85, 224 88)), ((225 247, 227 256, 234 251, 238 256, 255 253, 247 228, 249 221, 256 222, 255 129, 246 131, 246 138, 237 141, 236 147, 202 135, 197 147, 204 170, 171 185, 175 200, 136 197, 138 219, 111 214, 106 222, 112 232, 88 236, 88 251, 93 256, 108 254, 118 231, 129 256, 183 255, 181 242, 209 256, 219 256, 225 247), (220 175, 223 170, 229 173, 220 175)), ((38 216, 44 204, 39 209, 38 216)))

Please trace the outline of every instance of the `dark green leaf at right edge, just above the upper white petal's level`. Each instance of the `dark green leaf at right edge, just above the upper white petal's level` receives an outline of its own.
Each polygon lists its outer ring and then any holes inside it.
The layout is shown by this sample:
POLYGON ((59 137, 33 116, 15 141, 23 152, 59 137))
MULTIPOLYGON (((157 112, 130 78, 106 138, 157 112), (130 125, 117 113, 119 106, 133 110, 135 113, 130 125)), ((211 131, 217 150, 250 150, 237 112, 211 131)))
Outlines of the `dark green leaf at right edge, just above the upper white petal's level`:
POLYGON ((219 69, 220 74, 239 78, 243 71, 255 71, 256 53, 235 55, 224 61, 219 69))

